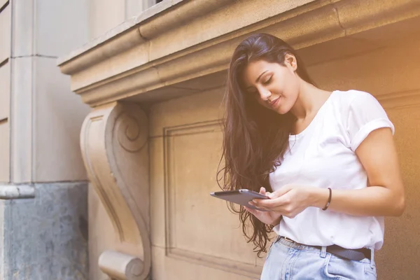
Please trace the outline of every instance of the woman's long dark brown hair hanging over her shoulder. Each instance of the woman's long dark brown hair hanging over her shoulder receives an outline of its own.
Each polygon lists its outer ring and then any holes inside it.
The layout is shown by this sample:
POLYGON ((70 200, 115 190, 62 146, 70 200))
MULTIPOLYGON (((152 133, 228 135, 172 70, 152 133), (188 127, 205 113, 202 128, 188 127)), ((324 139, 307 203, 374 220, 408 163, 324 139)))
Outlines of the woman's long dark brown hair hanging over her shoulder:
MULTIPOLYGON (((247 188, 256 192, 269 186, 269 173, 281 165, 288 148, 288 136, 295 120, 291 113, 280 115, 258 104, 253 94, 247 94, 241 80, 246 66, 256 60, 284 65, 286 54, 297 60, 296 73, 312 83, 295 50, 286 42, 269 34, 253 34, 239 43, 230 61, 225 97, 223 122, 223 154, 217 181, 223 190, 247 188)), ((313 84, 313 83, 312 83, 313 84)), ((272 225, 260 222, 255 216, 230 203, 231 211, 239 214, 242 231, 248 242, 255 245, 258 257, 267 251, 272 225), (251 223, 252 232, 248 232, 251 223)))

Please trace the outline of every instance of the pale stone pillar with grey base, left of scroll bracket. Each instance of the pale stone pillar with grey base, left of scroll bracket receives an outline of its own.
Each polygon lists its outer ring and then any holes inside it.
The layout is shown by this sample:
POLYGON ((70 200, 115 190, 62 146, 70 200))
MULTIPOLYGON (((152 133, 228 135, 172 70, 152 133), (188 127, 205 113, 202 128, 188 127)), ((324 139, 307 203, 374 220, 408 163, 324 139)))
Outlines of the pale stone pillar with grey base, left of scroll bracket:
POLYGON ((0 279, 87 279, 89 107, 55 66, 87 41, 87 1, 65 2, 0 1, 0 279))

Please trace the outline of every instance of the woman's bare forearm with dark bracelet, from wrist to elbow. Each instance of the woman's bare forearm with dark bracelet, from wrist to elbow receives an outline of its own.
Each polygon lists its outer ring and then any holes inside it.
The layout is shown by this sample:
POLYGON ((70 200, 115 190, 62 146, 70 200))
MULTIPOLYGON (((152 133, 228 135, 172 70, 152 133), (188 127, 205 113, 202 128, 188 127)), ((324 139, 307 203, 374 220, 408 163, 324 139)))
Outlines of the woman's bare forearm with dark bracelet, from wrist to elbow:
MULTIPOLYGON (((311 206, 323 209, 329 190, 311 188, 311 206)), ((388 188, 371 186, 360 190, 332 189, 327 211, 337 211, 353 216, 400 216, 405 209, 403 193, 388 188)))

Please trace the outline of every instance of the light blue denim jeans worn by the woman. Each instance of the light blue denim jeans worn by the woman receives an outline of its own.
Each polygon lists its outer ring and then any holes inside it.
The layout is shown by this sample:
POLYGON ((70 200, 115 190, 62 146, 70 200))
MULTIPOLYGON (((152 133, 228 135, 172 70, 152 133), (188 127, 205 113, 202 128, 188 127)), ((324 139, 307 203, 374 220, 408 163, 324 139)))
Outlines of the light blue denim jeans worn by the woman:
POLYGON ((346 260, 326 248, 296 244, 277 237, 270 246, 261 280, 377 279, 374 251, 371 260, 346 260))

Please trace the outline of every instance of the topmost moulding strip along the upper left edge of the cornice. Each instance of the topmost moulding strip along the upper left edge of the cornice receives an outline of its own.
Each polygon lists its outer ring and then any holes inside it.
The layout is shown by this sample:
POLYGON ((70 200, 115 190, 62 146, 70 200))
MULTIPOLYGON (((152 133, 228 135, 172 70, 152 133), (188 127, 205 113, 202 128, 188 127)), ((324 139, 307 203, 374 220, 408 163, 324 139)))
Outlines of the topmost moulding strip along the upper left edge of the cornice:
POLYGON ((85 66, 134 48, 165 31, 179 27, 204 13, 209 13, 214 8, 221 8, 229 2, 232 0, 163 1, 145 10, 141 15, 111 29, 104 36, 95 38, 82 48, 59 58, 57 64, 60 66, 66 64, 62 67, 63 73, 75 73, 84 69, 85 66))

